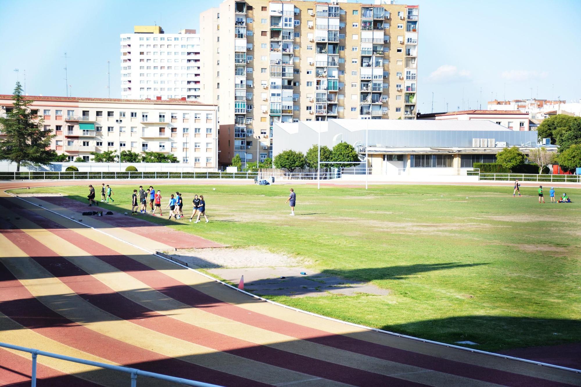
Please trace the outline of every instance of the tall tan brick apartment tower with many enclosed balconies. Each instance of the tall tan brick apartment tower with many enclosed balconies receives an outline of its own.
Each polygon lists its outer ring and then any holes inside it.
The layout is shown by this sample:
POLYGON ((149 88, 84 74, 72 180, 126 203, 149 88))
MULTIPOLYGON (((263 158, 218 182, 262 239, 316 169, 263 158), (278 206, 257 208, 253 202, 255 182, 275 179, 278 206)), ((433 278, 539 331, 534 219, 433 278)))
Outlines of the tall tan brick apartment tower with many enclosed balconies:
POLYGON ((226 0, 202 12, 202 99, 218 105, 220 163, 271 157, 273 123, 414 119, 418 11, 226 0))

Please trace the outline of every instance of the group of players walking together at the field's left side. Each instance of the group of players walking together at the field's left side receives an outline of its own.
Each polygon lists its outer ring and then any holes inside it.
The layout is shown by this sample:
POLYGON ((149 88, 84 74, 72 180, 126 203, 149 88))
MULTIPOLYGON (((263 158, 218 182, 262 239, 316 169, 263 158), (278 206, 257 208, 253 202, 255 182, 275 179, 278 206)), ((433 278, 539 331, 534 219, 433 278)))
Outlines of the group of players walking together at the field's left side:
MULTIPOLYGON (((111 197, 114 195, 113 189, 109 186, 109 184, 105 185, 102 184, 101 188, 101 202, 114 203, 113 198, 111 197)), ((89 184, 89 195, 87 195, 89 199, 89 206, 98 206, 99 203, 95 201, 95 188, 89 184)), ((162 210, 162 191, 159 189, 157 192, 155 188, 151 185, 148 189, 144 189, 142 185, 139 186, 139 190, 134 189, 131 194, 131 215, 139 214, 147 214, 148 213, 148 204, 150 209, 150 214, 153 216, 157 216, 156 212, 159 209, 159 216, 163 216, 162 210), (139 211, 139 212, 138 212, 139 211)), ((200 222, 200 216, 203 216, 206 219, 206 223, 209 222, 208 217, 206 216, 206 201, 204 200, 204 196, 195 195, 192 200, 193 210, 192 216, 189 217, 189 221, 192 221, 193 218, 198 215, 196 218, 195 223, 200 222)), ((171 193, 170 199, 168 200, 166 210, 170 210, 170 216, 168 220, 171 219, 173 216, 174 219, 180 219, 184 217, 184 200, 182 199, 182 194, 180 192, 175 192, 175 195, 171 193)))

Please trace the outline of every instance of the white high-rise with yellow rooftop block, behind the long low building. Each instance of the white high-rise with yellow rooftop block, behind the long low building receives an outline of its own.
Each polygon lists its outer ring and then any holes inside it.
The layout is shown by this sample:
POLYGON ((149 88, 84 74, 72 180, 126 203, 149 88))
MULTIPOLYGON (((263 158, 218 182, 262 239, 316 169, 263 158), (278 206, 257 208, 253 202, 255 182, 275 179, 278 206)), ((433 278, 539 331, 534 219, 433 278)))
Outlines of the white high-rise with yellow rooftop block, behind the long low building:
POLYGON ((200 35, 135 26, 121 34, 121 98, 200 99, 200 35))

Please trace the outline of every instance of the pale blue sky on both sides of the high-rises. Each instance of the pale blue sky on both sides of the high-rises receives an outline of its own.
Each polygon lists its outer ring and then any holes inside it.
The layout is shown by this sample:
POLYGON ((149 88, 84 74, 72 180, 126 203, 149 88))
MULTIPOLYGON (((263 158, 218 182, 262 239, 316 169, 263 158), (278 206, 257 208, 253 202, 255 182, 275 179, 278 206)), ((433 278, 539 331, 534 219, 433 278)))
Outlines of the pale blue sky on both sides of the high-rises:
MULTIPOLYGON (((26 70, 30 95, 120 95, 119 34, 157 23, 196 28, 218 1, 0 0, 0 93, 26 70)), ((404 1, 398 1, 404 3, 404 1)), ((486 109, 491 98, 581 98, 581 1, 415 0, 419 4, 418 110, 486 109), (482 88, 482 94, 480 94, 482 88), (538 91, 537 91, 538 90, 538 91), (482 95, 482 98, 480 97, 482 95), (462 99, 462 96, 464 98, 462 99), (463 101, 463 103, 462 103, 463 101)))

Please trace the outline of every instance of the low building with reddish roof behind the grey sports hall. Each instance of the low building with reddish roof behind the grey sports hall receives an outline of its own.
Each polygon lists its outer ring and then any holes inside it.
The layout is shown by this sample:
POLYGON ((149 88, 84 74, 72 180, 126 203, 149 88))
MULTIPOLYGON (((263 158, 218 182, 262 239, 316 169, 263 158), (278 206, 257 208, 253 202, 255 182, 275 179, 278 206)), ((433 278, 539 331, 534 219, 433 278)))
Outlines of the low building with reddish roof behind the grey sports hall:
POLYGON ((418 120, 492 121, 510 130, 530 130, 529 114, 520 110, 460 110, 418 114, 418 120))

